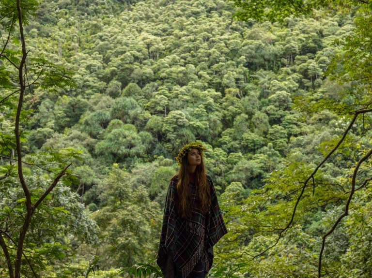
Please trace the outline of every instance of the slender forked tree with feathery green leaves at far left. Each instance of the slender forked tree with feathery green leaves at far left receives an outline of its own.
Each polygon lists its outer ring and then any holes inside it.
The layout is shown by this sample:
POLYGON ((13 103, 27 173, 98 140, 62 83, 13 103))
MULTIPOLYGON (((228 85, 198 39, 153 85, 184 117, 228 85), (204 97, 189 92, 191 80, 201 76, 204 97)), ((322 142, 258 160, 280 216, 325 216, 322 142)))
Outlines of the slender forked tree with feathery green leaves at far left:
MULTIPOLYGON (((3 175, 0 179, 4 182, 1 191, 5 190, 6 192, 9 187, 9 179, 16 176, 16 184, 21 186, 23 192, 23 196, 16 196, 15 200, 16 203, 22 205, 16 210, 18 211, 16 218, 23 220, 16 228, 5 225, 1 226, 0 230, 0 246, 6 259, 10 278, 20 278, 22 265, 25 264, 28 264, 33 275, 38 277, 24 251, 27 233, 38 208, 71 165, 66 162, 67 158, 78 155, 74 151, 64 154, 49 152, 47 159, 52 163, 48 163, 42 155, 34 156, 31 160, 27 160, 23 156, 24 128, 32 114, 32 110, 28 109, 25 101, 32 103, 34 90, 37 87, 43 89, 66 88, 74 85, 69 77, 70 73, 64 68, 54 65, 42 57, 34 58, 27 50, 24 26, 29 23, 30 17, 37 8, 38 2, 34 0, 1 0, 0 2, 3 42, 0 52, 0 86, 4 88, 1 92, 0 113, 2 121, 5 121, 3 116, 6 115, 6 121, 14 128, 14 132, 9 132, 9 129, 1 131, 0 153, 3 175), (17 43, 17 38, 20 38, 20 43, 17 43), (26 165, 27 167, 50 168, 49 171, 54 172, 55 176, 47 187, 42 190, 33 190, 28 183, 27 174, 24 172, 26 165)), ((37 109, 32 105, 31 108, 37 109)), ((11 208, 11 211, 14 209, 15 207, 11 208)), ((6 221, 14 220, 7 219, 6 221)))

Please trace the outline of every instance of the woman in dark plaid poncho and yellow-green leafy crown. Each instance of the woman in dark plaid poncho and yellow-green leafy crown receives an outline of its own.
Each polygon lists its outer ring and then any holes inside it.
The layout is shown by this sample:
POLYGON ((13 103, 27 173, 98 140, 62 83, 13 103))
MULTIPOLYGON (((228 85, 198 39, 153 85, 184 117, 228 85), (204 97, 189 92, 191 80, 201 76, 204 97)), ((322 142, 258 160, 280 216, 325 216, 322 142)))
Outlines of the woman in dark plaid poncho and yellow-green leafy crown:
POLYGON ((157 263, 164 278, 204 278, 213 262, 213 246, 227 233, 216 190, 205 174, 199 142, 185 145, 176 160, 164 209, 157 263))

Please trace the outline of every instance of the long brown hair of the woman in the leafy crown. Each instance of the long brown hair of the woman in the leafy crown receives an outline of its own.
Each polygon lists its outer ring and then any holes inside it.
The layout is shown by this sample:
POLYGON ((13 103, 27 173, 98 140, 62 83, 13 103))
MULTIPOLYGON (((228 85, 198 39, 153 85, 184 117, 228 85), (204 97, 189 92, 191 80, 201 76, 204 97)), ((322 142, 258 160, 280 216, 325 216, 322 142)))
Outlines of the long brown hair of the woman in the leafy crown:
MULTIPOLYGON (((177 211, 183 218, 189 218, 191 216, 190 202, 191 196, 188 189, 189 183, 189 166, 187 162, 187 155, 182 158, 181 167, 174 177, 178 177, 178 182, 176 186, 178 200, 177 200, 177 211)), ((208 212, 211 203, 211 191, 209 188, 209 183, 207 181, 207 176, 205 174, 205 166, 203 161, 203 156, 201 155, 201 163, 196 166, 195 169, 195 181, 197 185, 197 191, 199 192, 200 208, 203 214, 208 212)))

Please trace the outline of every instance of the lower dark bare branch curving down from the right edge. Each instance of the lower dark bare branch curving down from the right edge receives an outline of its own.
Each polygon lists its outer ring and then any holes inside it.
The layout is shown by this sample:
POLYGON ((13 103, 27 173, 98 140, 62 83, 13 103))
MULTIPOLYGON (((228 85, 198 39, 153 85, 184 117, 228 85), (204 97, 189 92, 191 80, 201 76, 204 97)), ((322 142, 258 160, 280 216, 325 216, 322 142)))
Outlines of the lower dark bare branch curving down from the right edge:
POLYGON ((362 157, 358 161, 358 163, 356 164, 356 167, 355 167, 354 173, 353 173, 353 179, 352 179, 352 182, 351 182, 351 190, 350 190, 349 198, 346 201, 345 209, 344 209, 343 213, 339 216, 339 218, 336 220, 336 222, 333 224, 332 228, 325 235, 323 235, 322 248, 321 248, 320 254, 319 254, 318 278, 321 278, 322 256, 323 256, 323 251, 324 251, 324 248, 325 248, 325 239, 327 238, 328 235, 333 233, 333 231, 339 225, 340 221, 345 216, 347 216, 349 214, 349 205, 350 205, 351 199, 353 198, 353 195, 354 195, 354 192, 355 192, 356 174, 358 173, 360 165, 364 161, 366 161, 371 155, 372 155, 372 149, 364 157, 362 157))

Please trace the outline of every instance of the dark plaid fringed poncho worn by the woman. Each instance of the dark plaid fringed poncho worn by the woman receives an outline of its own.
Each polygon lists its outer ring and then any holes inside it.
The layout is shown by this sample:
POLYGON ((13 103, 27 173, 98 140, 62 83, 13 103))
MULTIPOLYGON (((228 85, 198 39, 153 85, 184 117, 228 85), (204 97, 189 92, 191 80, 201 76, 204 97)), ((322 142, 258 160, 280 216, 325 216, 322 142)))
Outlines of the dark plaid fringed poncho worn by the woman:
MULTIPOLYGON (((190 183, 192 214, 188 219, 181 218, 176 212, 177 178, 170 182, 164 209, 163 227, 160 236, 157 264, 165 269, 172 261, 182 270, 182 276, 187 277, 195 264, 202 260, 207 271, 213 261, 213 246, 227 233, 221 211, 218 206, 216 190, 210 176, 207 181, 211 188, 211 206, 203 215, 200 210, 197 186, 190 183)), ((164 271, 163 271, 164 274, 164 271)))

